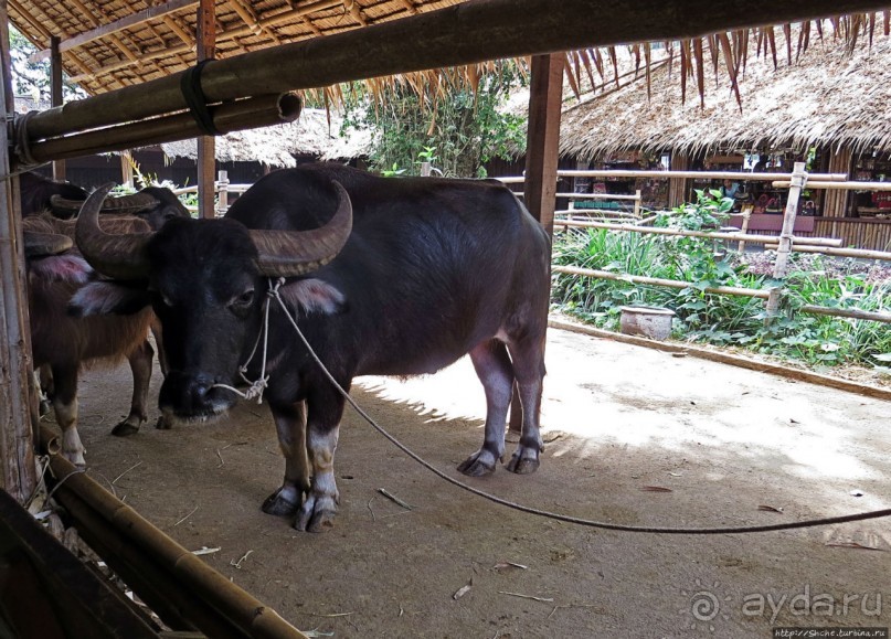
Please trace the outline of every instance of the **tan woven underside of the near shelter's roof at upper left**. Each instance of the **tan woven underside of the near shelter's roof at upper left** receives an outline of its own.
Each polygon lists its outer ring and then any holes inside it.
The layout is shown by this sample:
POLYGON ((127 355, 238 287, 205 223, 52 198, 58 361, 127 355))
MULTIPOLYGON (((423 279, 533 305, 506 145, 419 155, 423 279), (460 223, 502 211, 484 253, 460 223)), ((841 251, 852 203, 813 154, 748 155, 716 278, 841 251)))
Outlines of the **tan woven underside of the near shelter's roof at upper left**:
MULTIPOLYGON (((330 35, 459 0, 215 0, 216 57, 330 35)), ((65 73, 96 95, 195 63, 198 0, 13 0, 9 18, 39 49, 62 40, 65 73), (150 6, 147 7, 147 6, 150 6), (115 25, 115 26, 109 26, 115 25), (86 40, 85 34, 93 38, 86 40)))

